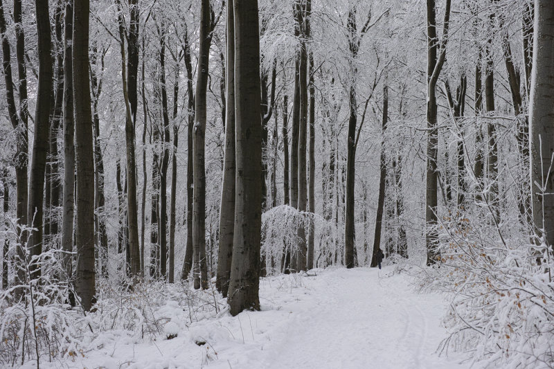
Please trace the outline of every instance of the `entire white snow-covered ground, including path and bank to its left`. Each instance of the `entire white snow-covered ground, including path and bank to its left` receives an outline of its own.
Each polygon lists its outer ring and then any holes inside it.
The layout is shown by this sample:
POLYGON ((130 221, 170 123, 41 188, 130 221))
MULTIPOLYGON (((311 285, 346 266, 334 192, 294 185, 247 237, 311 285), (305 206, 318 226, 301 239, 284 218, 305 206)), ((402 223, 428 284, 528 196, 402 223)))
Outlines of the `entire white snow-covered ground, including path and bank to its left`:
MULTIPOLYGON (((42 368, 469 368, 436 349, 446 301, 420 294, 392 267, 313 270, 263 278, 260 312, 220 312, 191 324, 177 303, 154 341, 102 332, 90 350, 42 368), (168 334, 177 335, 166 339, 168 334), (101 344, 98 344, 101 343, 101 344), (96 347, 94 347, 96 345, 96 347)), ((35 363, 26 363, 33 368, 35 363)), ((473 368, 476 368, 474 365, 473 368)))

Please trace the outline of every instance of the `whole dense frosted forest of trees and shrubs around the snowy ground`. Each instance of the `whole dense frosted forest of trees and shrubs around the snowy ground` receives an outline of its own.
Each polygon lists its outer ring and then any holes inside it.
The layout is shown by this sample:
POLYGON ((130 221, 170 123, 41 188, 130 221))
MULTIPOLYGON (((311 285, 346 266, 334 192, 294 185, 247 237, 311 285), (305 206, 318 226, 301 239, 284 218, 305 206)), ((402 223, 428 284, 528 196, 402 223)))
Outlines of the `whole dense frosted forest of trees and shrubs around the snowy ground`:
POLYGON ((380 248, 457 296, 445 345, 552 364, 548 1, 74 1, 0 1, 6 362, 48 351, 28 306, 215 282, 235 315, 380 248))

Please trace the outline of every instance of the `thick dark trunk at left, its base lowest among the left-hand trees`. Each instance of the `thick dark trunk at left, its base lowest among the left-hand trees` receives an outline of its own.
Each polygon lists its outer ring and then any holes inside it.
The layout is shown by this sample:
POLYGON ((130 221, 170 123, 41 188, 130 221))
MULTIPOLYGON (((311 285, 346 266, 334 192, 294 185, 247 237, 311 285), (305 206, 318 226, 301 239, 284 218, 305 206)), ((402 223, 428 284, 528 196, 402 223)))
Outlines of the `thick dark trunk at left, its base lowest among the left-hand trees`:
POLYGON ((96 295, 94 269, 94 156, 89 87, 89 1, 75 0, 73 10, 73 98, 77 164, 77 294, 89 310, 96 295))

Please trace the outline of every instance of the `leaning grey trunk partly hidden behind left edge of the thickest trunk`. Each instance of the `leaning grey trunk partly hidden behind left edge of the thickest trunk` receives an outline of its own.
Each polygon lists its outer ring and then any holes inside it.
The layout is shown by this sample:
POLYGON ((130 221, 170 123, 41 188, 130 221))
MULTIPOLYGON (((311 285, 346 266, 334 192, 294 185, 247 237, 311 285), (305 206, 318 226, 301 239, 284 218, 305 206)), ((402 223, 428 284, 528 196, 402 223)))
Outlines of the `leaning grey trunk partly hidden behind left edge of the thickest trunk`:
POLYGON ((235 226, 235 18, 233 0, 227 4, 226 19, 226 115, 225 158, 220 206, 220 250, 217 255, 215 287, 224 297, 229 290, 233 233, 235 226))

